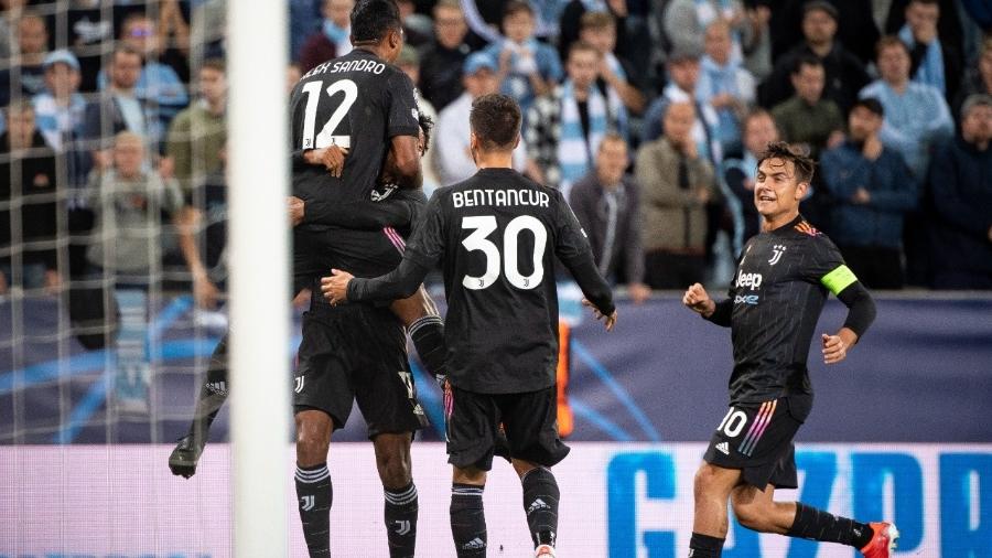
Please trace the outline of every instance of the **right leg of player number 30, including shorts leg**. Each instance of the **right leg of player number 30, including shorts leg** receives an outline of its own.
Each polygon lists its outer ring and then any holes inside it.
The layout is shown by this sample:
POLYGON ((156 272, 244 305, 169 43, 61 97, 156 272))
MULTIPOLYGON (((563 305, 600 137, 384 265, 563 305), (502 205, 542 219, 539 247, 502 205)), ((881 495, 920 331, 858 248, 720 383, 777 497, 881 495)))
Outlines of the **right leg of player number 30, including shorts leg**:
POLYGON ((558 387, 496 397, 536 556, 554 556, 561 494, 551 468, 569 453, 558 434, 558 387))

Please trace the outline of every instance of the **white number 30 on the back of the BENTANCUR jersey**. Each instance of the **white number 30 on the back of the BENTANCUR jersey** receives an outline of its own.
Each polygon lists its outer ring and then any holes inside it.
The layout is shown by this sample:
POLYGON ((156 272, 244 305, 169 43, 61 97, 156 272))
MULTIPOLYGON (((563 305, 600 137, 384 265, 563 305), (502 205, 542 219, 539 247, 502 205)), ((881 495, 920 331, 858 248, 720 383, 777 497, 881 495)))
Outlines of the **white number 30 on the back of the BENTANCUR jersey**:
POLYGON ((481 290, 489 287, 499 278, 499 260, 503 259, 503 272, 506 280, 518 289, 533 289, 541 283, 544 278, 543 255, 544 245, 548 243, 548 230, 535 217, 530 215, 520 215, 514 217, 507 223, 506 229, 503 232, 503 249, 506 251, 504 258, 499 257, 499 248, 488 240, 490 233, 496 230, 496 217, 493 215, 483 215, 478 217, 462 217, 462 228, 474 229, 471 235, 462 240, 468 251, 482 250, 486 256, 486 272, 481 277, 466 275, 462 278, 462 285, 466 289, 481 290), (533 234, 533 272, 525 276, 517 268, 517 248, 518 236, 520 232, 527 229, 533 234))

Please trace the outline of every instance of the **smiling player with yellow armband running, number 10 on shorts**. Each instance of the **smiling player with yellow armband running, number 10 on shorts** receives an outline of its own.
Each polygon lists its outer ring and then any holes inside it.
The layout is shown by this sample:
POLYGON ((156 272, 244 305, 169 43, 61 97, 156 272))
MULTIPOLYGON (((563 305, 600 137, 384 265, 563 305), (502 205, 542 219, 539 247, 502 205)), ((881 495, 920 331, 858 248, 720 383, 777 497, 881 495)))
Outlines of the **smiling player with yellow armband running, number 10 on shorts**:
POLYGON ((871 296, 837 247, 799 215, 812 174, 810 159, 786 143, 768 144, 754 189, 762 232, 744 247, 730 297, 715 302, 696 283, 682 298, 704 319, 731 328, 734 348, 730 410, 696 473, 692 558, 720 556, 727 500, 747 528, 840 543, 870 558, 892 556, 899 536, 889 523, 773 500, 775 489, 797 487, 792 437, 812 407, 806 360, 828 293, 848 307, 848 318, 837 334, 822 334, 824 363, 844 360, 875 318, 871 296))

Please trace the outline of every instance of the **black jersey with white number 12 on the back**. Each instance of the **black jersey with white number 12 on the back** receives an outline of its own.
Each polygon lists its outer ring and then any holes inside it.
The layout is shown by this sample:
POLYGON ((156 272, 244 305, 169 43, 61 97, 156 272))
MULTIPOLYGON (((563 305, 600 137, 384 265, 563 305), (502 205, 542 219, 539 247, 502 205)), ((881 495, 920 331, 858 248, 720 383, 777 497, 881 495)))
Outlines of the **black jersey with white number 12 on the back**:
POLYGON ((390 139, 420 132, 413 83, 399 68, 356 49, 303 76, 290 101, 292 150, 337 144, 349 149, 341 179, 322 165, 293 163, 293 195, 312 200, 369 200, 390 139))

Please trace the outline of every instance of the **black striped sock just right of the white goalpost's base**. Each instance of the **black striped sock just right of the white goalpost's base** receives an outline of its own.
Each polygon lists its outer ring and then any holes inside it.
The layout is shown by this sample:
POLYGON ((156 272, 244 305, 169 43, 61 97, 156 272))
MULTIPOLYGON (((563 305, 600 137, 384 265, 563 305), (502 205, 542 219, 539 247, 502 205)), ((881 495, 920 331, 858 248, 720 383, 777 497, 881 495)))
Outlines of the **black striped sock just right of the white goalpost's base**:
POLYGON ((296 504, 310 558, 331 556, 331 502, 334 490, 327 463, 296 465, 296 504))

